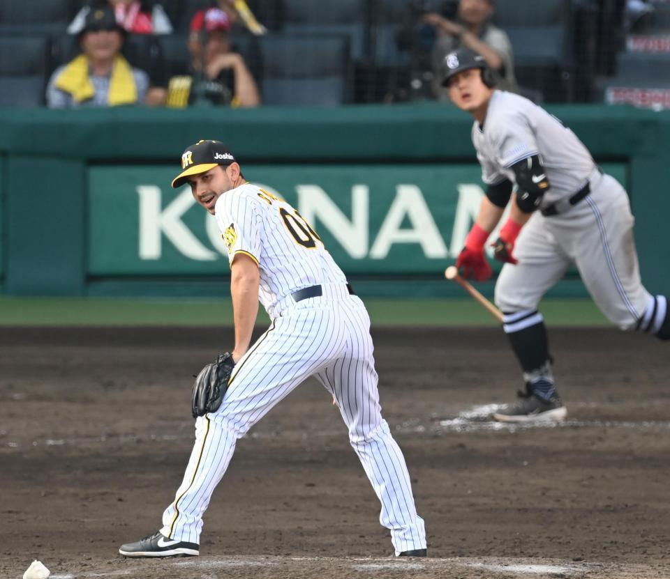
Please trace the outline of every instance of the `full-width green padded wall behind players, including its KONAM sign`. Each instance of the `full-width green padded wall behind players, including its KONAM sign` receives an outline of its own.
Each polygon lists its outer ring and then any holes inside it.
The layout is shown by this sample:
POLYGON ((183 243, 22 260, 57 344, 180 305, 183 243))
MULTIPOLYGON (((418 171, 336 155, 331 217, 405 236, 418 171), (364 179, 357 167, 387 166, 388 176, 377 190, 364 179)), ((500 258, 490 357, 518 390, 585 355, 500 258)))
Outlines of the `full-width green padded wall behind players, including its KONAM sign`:
MULTIPOLYGON (((552 107, 630 192, 643 279, 667 291, 670 114, 552 107)), ((361 293, 456 295, 442 271, 484 194, 452 107, 0 111, 0 275, 8 295, 214 295, 225 247, 187 187, 184 146, 226 141, 252 183, 320 233, 361 293)), ((490 293, 492 283, 482 284, 490 293)), ((556 295, 585 295, 576 272, 556 295)))

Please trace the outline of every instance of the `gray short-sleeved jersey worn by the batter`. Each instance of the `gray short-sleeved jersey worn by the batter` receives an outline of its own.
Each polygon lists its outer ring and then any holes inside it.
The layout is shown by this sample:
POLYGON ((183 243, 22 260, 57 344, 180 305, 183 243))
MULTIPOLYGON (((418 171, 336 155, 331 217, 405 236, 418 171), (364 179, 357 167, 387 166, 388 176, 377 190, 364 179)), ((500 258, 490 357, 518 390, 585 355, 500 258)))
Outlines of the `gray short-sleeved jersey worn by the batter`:
POLYGON ((472 125, 472 144, 487 185, 514 182, 513 164, 539 155, 549 179, 542 207, 578 192, 595 169, 593 157, 576 134, 527 98, 493 91, 484 128, 472 125))

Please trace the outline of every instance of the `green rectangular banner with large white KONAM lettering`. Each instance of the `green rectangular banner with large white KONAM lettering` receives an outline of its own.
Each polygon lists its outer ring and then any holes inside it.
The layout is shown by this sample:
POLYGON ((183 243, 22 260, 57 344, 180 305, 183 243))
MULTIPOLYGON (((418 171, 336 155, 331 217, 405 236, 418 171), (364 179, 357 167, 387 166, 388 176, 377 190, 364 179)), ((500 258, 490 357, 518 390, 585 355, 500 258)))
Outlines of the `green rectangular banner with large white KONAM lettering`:
MULTIPOLYGON (((623 164, 603 167, 625 183, 623 164)), ((244 165, 291 203, 348 275, 434 275, 463 247, 484 195, 472 164, 244 165)), ((216 275, 228 259, 214 217, 172 166, 89 168, 87 272, 216 275)))

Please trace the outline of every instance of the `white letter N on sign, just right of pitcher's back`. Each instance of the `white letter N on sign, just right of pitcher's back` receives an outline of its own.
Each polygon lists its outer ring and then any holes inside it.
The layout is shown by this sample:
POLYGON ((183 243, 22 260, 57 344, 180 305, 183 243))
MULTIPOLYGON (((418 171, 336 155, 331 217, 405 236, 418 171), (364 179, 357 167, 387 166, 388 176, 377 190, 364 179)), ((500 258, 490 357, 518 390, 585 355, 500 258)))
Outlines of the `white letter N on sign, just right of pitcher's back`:
POLYGON ((353 258, 361 259, 367 255, 370 205, 367 185, 351 188, 351 220, 318 185, 296 185, 295 189, 298 192, 298 210, 306 222, 318 231, 318 219, 353 258))

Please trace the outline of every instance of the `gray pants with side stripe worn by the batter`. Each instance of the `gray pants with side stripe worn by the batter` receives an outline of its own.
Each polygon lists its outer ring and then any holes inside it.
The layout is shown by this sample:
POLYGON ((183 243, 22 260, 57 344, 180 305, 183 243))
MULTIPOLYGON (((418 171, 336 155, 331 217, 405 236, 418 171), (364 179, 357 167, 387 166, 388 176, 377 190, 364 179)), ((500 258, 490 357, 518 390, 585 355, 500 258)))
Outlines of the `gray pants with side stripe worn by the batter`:
POLYGON ((496 284, 502 311, 533 311, 573 263, 609 320, 632 330, 653 298, 640 279, 628 196, 611 176, 598 176, 586 199, 560 215, 539 212, 521 230, 496 284))

